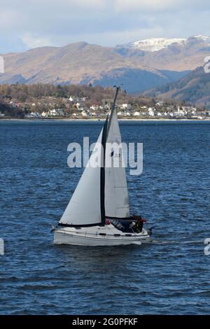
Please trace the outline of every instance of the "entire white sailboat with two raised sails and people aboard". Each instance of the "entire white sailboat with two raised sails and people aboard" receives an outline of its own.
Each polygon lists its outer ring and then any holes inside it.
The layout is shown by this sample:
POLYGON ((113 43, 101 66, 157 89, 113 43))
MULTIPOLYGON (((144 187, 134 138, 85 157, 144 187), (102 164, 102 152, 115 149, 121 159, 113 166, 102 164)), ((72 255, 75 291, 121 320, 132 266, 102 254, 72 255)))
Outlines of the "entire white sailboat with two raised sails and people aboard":
POLYGON ((143 228, 144 219, 130 214, 123 149, 111 153, 106 150, 108 143, 117 146, 122 143, 116 112, 119 90, 120 87, 116 87, 110 116, 106 118, 76 190, 57 227, 52 229, 54 244, 119 246, 151 242, 149 230, 143 228), (101 157, 97 167, 90 165, 96 152, 101 157), (120 165, 115 166, 119 159, 120 165), (108 160, 111 166, 106 165, 108 160))

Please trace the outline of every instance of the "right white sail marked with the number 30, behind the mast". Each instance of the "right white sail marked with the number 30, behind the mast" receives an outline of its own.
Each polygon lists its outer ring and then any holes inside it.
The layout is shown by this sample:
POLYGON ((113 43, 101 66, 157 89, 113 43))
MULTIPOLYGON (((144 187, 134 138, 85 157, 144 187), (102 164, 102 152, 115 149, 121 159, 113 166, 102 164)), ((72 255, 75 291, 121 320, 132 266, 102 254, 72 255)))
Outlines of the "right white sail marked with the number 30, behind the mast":
POLYGON ((130 217, 130 207, 123 150, 118 147, 122 140, 116 109, 113 110, 110 120, 105 157, 105 214, 108 217, 126 218, 130 217), (109 146, 113 143, 115 146, 111 151, 109 146))

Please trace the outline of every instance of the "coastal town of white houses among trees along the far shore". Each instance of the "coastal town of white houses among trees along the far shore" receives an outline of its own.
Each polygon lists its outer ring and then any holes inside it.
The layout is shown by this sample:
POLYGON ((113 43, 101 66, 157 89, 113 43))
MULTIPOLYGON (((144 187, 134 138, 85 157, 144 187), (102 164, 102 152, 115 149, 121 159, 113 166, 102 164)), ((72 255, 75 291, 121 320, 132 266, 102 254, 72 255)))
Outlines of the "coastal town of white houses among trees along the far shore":
MULTIPOLYGON (((20 87, 19 87, 20 89, 20 87)), ((106 88, 86 87, 87 95, 76 91, 70 96, 63 93, 29 97, 20 93, 1 94, 0 118, 25 118, 25 119, 103 119, 111 111, 112 90, 106 88), (109 90, 108 90, 109 89, 109 90), (107 94, 108 90, 108 94, 107 94), (99 93, 100 91, 100 93, 99 93), (82 94, 78 96, 78 94, 82 94)), ((62 89, 59 89, 62 90, 62 89)), ((16 87, 17 91, 17 87, 16 87)), ((55 92, 54 92, 55 93, 55 92)), ((118 118, 121 119, 195 119, 210 118, 210 109, 204 106, 193 106, 185 102, 164 101, 149 99, 148 97, 134 97, 121 92, 121 97, 116 104, 118 118)))

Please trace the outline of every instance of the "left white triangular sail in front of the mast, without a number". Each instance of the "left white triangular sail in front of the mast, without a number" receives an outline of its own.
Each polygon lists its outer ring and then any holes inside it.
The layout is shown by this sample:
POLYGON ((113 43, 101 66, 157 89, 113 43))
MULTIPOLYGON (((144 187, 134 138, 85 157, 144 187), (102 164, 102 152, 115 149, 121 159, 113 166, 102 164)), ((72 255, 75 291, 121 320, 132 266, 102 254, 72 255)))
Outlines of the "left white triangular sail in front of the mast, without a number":
POLYGON ((97 167, 92 166, 96 154, 99 157, 102 154, 102 132, 59 223, 82 226, 102 222, 100 200, 101 159, 97 167))

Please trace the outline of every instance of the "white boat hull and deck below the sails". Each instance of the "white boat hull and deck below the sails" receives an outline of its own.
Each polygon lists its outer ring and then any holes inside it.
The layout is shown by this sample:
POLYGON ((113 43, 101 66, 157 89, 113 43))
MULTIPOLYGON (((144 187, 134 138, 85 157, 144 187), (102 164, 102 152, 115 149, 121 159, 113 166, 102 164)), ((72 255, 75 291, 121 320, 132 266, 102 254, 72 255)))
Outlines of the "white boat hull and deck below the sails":
POLYGON ((129 244, 148 244, 151 243, 151 237, 146 230, 141 233, 127 236, 113 227, 107 225, 103 227, 83 228, 61 228, 55 229, 54 244, 74 244, 78 246, 120 246, 129 244), (105 233, 106 232, 106 233, 105 233), (105 235, 104 235, 105 234, 105 235))

